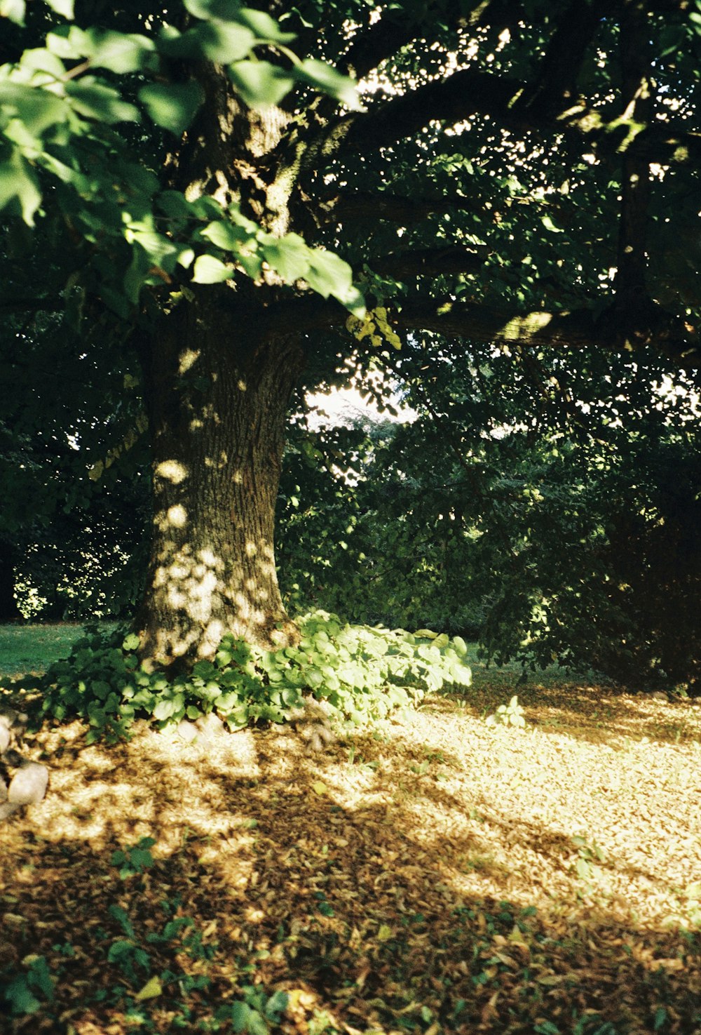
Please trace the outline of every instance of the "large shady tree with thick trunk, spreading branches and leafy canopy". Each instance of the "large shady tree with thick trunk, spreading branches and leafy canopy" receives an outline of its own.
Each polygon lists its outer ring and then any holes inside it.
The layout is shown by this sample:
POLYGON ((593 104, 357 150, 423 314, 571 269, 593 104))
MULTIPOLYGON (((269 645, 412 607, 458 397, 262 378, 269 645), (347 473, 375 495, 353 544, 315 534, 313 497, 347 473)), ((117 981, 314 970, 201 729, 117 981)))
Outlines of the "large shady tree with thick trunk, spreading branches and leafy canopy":
MULTIPOLYGON (((695 366, 698 295, 665 250, 678 264, 701 150, 688 0, 52 7, 70 24, 44 48, 36 25, 3 43, 0 204, 69 245, 84 333, 109 309, 141 361, 144 656, 294 642, 273 526, 305 366, 430 384, 427 333, 452 362, 458 341, 695 366)), ((697 273, 698 242, 682 258, 697 273)))

